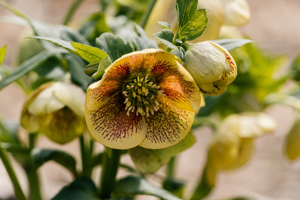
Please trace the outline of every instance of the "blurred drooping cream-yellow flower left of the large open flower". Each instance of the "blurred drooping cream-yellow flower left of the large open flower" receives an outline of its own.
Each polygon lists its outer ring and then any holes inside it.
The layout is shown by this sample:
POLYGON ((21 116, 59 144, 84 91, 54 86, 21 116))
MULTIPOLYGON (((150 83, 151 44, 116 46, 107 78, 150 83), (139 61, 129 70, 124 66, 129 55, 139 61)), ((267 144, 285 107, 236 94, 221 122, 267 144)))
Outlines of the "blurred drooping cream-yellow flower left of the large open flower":
POLYGON ((25 103, 21 125, 59 144, 70 142, 86 130, 84 99, 84 91, 70 83, 41 85, 25 103))

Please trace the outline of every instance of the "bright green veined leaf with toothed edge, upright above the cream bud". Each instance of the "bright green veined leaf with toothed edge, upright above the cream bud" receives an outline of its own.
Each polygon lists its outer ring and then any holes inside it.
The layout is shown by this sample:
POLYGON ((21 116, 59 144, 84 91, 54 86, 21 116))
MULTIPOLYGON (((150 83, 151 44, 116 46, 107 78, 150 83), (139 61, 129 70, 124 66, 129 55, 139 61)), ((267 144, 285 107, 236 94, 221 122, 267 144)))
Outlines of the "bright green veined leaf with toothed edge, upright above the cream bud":
POLYGON ((198 0, 176 0, 176 39, 195 40, 202 35, 208 22, 205 9, 197 9, 198 0))

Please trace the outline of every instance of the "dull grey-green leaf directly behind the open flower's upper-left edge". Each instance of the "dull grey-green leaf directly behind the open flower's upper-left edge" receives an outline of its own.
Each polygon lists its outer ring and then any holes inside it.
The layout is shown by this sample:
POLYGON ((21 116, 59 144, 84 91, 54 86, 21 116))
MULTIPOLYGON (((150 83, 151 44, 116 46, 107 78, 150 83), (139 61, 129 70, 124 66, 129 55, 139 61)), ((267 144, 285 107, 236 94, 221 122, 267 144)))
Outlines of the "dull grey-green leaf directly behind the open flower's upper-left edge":
POLYGON ((100 37, 96 38, 96 44, 100 49, 107 52, 112 61, 135 50, 129 41, 125 42, 122 37, 111 33, 101 34, 100 37))

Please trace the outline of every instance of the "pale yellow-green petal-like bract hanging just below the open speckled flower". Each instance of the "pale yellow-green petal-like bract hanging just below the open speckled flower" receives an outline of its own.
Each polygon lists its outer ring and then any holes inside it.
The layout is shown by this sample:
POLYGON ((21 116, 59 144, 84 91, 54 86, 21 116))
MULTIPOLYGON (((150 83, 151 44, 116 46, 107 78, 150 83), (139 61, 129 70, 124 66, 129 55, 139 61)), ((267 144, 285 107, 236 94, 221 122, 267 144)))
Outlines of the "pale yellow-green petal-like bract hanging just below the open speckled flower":
POLYGON ((154 173, 167 164, 170 159, 180 152, 190 148, 195 143, 195 138, 190 132, 178 144, 164 149, 146 149, 140 146, 129 149, 132 161, 137 169, 143 173, 154 173))

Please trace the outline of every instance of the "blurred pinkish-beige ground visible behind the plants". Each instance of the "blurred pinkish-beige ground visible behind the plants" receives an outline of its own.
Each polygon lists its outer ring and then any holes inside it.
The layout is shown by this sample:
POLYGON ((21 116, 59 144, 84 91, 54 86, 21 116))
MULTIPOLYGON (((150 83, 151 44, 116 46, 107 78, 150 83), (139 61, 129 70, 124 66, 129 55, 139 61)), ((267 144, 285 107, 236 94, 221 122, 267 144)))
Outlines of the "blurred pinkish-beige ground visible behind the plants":
MULTIPOLYGON (((70 0, 10 0, 32 19, 57 24, 62 21, 63 13, 70 5, 70 0)), ((276 54, 286 54, 293 58, 300 50, 300 1, 299 0, 251 0, 250 22, 241 31, 254 40, 262 49, 276 54)), ((82 20, 84 16, 97 11, 96 0, 85 0, 76 12, 74 19, 82 20)), ((11 15, 0 6, 0 16, 11 15)), ((13 66, 16 46, 20 40, 23 27, 0 23, 0 46, 7 44, 7 57, 4 64, 13 66)), ((286 63, 289 64, 289 61, 286 63)), ((15 85, 0 91, 0 114, 9 120, 19 119, 24 94, 15 85)), ((256 140, 253 157, 246 166, 234 172, 221 173, 217 187, 208 199, 233 196, 252 196, 263 200, 297 200, 300 199, 300 162, 289 162, 283 155, 284 137, 292 123, 294 112, 285 106, 273 106, 267 112, 277 121, 278 129, 270 135, 256 140)), ((194 177, 202 171, 206 147, 211 131, 202 127, 195 133, 197 143, 179 157, 178 178, 187 181, 190 191, 195 184, 194 177), (192 155, 192 156, 191 156, 192 155)), ((77 142, 58 146, 45 138, 39 140, 43 147, 62 148, 75 156, 77 142)), ((125 157, 123 161, 129 162, 125 157)), ((15 163, 14 163, 15 164, 15 163)), ((16 168, 19 168, 16 165, 16 168)), ((45 199, 51 198, 58 190, 71 180, 69 173, 54 163, 46 163, 40 169, 42 190, 45 199)), ((18 170, 22 187, 26 190, 26 179, 22 170, 18 170)), ((153 178, 153 177, 152 177, 153 178)), ((153 178, 155 179, 155 178, 153 178)), ((0 161, 0 199, 13 194, 12 185, 0 161)), ((141 199, 149 199, 141 197, 141 199)))

